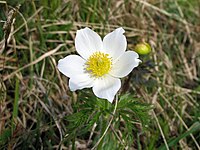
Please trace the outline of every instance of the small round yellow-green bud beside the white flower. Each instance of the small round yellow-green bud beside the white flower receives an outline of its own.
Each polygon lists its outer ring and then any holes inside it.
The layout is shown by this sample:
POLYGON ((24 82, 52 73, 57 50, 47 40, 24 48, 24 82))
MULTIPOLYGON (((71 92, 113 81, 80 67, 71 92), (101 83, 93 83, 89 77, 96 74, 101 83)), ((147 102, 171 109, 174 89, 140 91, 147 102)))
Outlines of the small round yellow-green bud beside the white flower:
POLYGON ((140 55, 147 55, 151 52, 151 46, 148 43, 139 43, 135 46, 135 52, 140 55))

